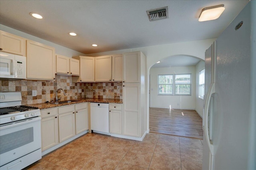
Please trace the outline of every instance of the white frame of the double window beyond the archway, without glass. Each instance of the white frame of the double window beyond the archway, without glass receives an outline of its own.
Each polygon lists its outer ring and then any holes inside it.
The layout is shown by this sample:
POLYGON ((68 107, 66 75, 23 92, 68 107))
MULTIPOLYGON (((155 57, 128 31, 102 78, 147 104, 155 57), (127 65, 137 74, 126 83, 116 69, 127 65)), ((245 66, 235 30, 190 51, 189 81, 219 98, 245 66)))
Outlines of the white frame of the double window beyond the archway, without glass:
POLYGON ((192 73, 185 73, 185 74, 158 74, 157 75, 157 87, 158 87, 158 95, 169 95, 169 96, 191 96, 191 89, 192 89, 192 73), (190 83, 189 84, 176 84, 175 83, 175 77, 176 75, 190 75, 190 83), (159 84, 159 76, 172 76, 172 84, 159 84), (172 94, 160 94, 159 93, 159 86, 160 85, 172 85, 172 94), (176 94, 176 85, 189 85, 189 94, 176 94))

